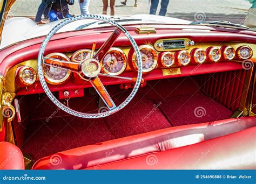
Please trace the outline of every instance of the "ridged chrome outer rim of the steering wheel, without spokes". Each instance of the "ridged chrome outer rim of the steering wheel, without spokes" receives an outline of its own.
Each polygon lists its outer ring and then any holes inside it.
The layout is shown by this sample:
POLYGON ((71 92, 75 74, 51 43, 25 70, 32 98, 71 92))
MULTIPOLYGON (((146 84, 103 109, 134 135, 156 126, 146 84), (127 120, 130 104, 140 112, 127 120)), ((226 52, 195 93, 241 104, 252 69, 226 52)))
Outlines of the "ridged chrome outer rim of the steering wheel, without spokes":
POLYGON ((114 22, 113 20, 104 17, 104 16, 100 16, 100 15, 80 15, 80 16, 75 16, 75 17, 70 17, 67 18, 65 20, 63 20, 62 22, 60 22, 59 24, 57 24, 55 27, 53 27, 53 29, 48 33, 48 35, 45 37, 41 48, 39 49, 39 53, 38 53, 38 64, 37 64, 37 69, 38 69, 38 76, 39 76, 39 80, 42 84, 42 87, 45 91, 45 94, 50 98, 50 100, 57 105, 58 108, 62 109, 63 111, 73 115, 73 116, 77 116, 77 117, 82 117, 82 118, 102 118, 102 117, 106 117, 109 116, 111 114, 114 114, 116 112, 118 112, 119 110, 123 109, 127 104, 129 104, 132 100, 132 98, 136 95, 139 86, 140 86, 140 82, 142 81, 142 56, 140 55, 140 51, 139 51, 139 47, 136 44, 136 41, 132 38, 131 34, 121 25, 119 25, 118 23, 114 22), (48 84, 46 83, 45 79, 44 79, 44 74, 43 74, 43 56, 44 56, 44 52, 45 52, 45 48, 48 45, 50 39, 52 38, 52 36, 59 30, 61 29, 63 26, 71 23, 71 22, 75 22, 76 20, 82 20, 82 19, 96 19, 96 20, 102 20, 103 22, 109 23, 115 27, 117 27, 121 32, 123 32, 125 34, 125 36, 129 39, 130 43, 132 44, 132 47, 134 49, 134 52, 137 55, 137 59, 138 59, 138 74, 137 74, 137 80, 136 83, 134 85, 134 88, 131 92, 131 94, 125 99, 124 102, 122 102, 120 105, 118 105, 117 107, 109 110, 109 111, 105 111, 105 112, 99 112, 99 113, 95 113, 95 114, 89 114, 89 113, 85 113, 85 112, 79 112, 76 110, 73 110, 69 107, 66 107, 64 104, 60 103, 58 101, 58 99, 51 93, 48 84))

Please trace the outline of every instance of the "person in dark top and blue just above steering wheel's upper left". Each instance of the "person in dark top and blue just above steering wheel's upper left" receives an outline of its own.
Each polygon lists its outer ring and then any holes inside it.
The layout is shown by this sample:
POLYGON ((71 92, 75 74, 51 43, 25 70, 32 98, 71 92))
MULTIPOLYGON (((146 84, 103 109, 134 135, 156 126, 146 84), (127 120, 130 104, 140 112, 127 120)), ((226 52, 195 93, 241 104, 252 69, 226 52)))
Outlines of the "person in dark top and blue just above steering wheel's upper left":
POLYGON ((48 17, 50 22, 58 19, 69 18, 69 5, 74 4, 74 0, 44 0, 50 11, 48 17))

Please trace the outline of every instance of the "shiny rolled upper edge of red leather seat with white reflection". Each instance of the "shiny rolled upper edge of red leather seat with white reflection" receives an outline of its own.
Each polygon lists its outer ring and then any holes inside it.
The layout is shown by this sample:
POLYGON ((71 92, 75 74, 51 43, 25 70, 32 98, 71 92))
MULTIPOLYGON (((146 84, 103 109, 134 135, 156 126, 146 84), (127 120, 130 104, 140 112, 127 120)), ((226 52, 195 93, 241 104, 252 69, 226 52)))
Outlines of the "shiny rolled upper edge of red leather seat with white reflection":
MULTIPOLYGON (((97 169, 103 164, 138 157, 153 152, 166 150, 170 150, 170 152, 172 152, 177 150, 173 148, 196 143, 207 145, 206 140, 239 132, 253 126, 256 126, 256 117, 243 117, 240 119, 233 118, 210 123, 176 126, 52 154, 49 157, 39 159, 32 168, 84 169, 91 167, 97 169)), ((242 139, 237 139, 237 141, 238 140, 241 141, 242 139)), ((238 145, 237 141, 235 141, 236 145, 238 145)), ((228 144, 232 144, 231 142, 232 140, 230 139, 229 141, 226 141, 228 144)), ((239 144, 241 143, 239 142, 239 144)), ((190 146, 187 147, 189 148, 190 146)), ((203 149, 203 147, 204 146, 201 146, 201 149, 203 149)), ((240 148, 237 148, 237 150, 239 149, 240 148)), ((167 153, 169 153, 169 151, 167 153)), ((198 153, 201 154, 201 152, 198 153)), ((179 152, 179 154, 181 158, 185 158, 182 155, 183 152, 179 152)), ((221 156, 230 153, 226 152, 226 148, 224 147, 222 151, 219 150, 218 154, 221 156)), ((194 158, 196 158, 196 156, 194 158)), ((186 164, 185 159, 184 164, 186 164)))

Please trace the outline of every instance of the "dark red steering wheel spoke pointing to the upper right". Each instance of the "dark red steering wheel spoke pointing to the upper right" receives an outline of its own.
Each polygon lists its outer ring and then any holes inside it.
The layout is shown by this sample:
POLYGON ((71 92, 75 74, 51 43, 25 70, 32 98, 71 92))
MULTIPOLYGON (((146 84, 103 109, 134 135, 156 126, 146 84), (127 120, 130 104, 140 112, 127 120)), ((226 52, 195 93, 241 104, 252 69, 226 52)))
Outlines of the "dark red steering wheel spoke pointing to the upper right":
POLYGON ((114 42, 117 40, 117 38, 120 36, 122 31, 120 31, 118 28, 113 31, 109 39, 105 41, 105 43, 99 48, 98 52, 93 56, 94 59, 97 59, 98 61, 101 61, 109 49, 113 46, 114 42))

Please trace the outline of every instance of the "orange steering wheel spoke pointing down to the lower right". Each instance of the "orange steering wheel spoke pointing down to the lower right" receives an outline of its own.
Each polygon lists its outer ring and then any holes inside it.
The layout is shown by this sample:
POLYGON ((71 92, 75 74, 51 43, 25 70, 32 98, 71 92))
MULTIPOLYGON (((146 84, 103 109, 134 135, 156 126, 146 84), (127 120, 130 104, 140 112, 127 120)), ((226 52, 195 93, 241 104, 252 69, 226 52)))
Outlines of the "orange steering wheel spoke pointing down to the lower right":
POLYGON ((106 88, 103 86, 103 83, 100 81, 99 77, 90 80, 90 83, 92 84, 93 88, 95 88, 109 110, 116 108, 116 104, 114 104, 112 98, 110 97, 106 88))

